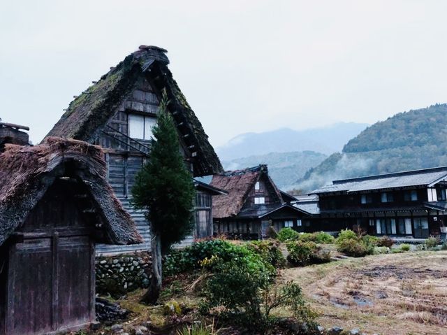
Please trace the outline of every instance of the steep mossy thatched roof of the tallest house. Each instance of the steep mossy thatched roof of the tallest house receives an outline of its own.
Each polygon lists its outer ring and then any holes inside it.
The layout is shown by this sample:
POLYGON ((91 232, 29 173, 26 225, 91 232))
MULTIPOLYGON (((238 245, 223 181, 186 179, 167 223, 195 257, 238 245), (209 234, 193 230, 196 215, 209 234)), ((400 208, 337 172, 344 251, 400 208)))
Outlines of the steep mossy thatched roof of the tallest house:
POLYGON ((187 135, 184 141, 197 152, 193 162, 195 175, 221 172, 223 169, 219 157, 168 69, 169 60, 165 53, 164 49, 141 45, 140 50, 127 56, 98 83, 73 100, 47 136, 75 138, 92 143, 122 101, 131 94, 136 80, 143 73, 158 91, 157 94, 163 88, 166 89, 170 99, 168 108, 177 124, 181 124, 179 132, 187 135))

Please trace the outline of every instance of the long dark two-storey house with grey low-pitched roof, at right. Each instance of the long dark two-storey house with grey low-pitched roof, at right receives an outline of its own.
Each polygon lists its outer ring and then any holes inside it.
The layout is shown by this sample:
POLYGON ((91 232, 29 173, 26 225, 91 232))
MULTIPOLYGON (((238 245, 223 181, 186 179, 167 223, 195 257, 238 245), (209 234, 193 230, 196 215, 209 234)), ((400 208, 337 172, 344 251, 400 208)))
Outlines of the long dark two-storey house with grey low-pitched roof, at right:
MULTIPOLYGON (((335 180, 318 196, 312 231, 362 229, 367 234, 427 238, 446 233, 447 166, 335 180)), ((305 208, 300 201, 295 204, 305 208)))

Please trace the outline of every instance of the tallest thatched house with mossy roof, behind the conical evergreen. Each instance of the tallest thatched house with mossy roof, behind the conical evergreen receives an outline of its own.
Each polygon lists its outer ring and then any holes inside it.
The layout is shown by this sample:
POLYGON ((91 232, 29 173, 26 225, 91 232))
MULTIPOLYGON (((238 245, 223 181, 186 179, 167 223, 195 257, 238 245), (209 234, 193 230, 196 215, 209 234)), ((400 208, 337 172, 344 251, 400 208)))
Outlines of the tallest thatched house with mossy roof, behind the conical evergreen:
MULTIPOLYGON (((132 208, 131 189, 135 175, 140 171, 150 150, 152 127, 156 123, 162 90, 166 90, 170 103, 168 110, 177 124, 180 148, 184 162, 191 170, 191 178, 222 171, 222 166, 202 124, 180 91, 168 69, 166 50, 140 45, 138 51, 127 56, 117 66, 94 82, 85 92, 71 102, 57 124, 47 136, 75 138, 101 145, 105 152, 107 177, 113 191, 137 224, 145 238, 142 245, 100 245, 98 252, 126 252, 149 250, 149 224, 142 211, 132 208)), ((198 189, 196 199, 197 222, 193 238, 212 236, 211 196, 216 190, 198 189), (211 191, 211 192, 210 192, 211 191)), ((219 193, 220 191, 218 191, 219 193)))

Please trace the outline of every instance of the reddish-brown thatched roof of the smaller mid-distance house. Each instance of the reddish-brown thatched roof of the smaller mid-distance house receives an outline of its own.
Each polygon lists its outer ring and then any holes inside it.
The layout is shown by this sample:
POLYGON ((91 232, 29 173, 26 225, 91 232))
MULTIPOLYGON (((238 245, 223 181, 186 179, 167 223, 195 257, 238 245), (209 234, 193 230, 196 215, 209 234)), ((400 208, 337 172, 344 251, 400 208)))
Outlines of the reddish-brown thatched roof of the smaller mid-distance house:
POLYGON ((279 202, 282 202, 281 194, 274 185, 266 165, 254 166, 249 169, 226 171, 212 177, 210 185, 228 192, 228 195, 214 196, 212 199, 213 218, 229 218, 237 215, 253 189, 256 182, 265 176, 268 179, 279 202))

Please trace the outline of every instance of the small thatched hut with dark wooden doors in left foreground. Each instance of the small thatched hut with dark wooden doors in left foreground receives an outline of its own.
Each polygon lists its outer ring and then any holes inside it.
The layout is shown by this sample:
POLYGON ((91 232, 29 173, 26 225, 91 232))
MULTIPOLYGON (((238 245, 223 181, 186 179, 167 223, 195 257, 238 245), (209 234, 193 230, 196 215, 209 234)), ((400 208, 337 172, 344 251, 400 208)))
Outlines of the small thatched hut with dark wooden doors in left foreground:
POLYGON ((101 148, 47 138, 0 153, 0 334, 95 320, 94 243, 141 243, 105 179, 101 148))

